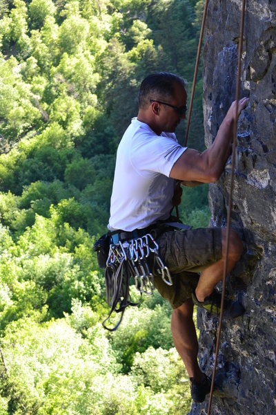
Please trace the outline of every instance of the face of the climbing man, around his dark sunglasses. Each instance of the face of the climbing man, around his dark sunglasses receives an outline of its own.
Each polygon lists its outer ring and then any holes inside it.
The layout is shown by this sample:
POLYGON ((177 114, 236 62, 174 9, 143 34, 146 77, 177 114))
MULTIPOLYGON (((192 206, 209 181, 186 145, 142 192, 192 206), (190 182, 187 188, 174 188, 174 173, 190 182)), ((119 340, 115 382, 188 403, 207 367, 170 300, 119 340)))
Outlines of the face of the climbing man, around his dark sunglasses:
MULTIPOLYGON (((180 84, 175 84, 175 96, 164 100, 164 102, 171 104, 178 109, 181 107, 186 106, 187 102, 187 93, 183 86, 180 84)), ((160 105, 160 127, 162 131, 167 133, 175 132, 177 125, 181 120, 184 120, 186 117, 186 112, 179 113, 177 109, 169 107, 166 104, 159 104, 160 105)))

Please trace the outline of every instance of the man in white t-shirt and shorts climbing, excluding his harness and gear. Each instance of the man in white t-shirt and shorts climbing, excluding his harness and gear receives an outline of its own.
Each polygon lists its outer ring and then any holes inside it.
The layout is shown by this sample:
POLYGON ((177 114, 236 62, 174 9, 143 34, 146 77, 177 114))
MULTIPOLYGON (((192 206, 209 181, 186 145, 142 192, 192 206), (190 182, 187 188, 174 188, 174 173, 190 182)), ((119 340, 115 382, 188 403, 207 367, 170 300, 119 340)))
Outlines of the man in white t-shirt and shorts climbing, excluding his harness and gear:
MULTIPOLYGON (((210 392, 210 378, 199 368, 193 306, 219 313, 221 297, 215 290, 223 277, 226 229, 173 230, 169 219, 177 181, 199 185, 218 180, 231 152, 235 102, 224 118, 213 144, 200 153, 181 147, 177 124, 186 116, 184 81, 172 73, 149 75, 139 90, 139 113, 133 118, 117 150, 110 221, 111 231, 155 229, 159 252, 170 270, 172 285, 155 273, 155 286, 172 306, 172 338, 191 382, 195 402, 210 392), (200 275, 199 275, 200 273, 200 275)), ((238 113, 247 100, 239 100, 238 113)), ((229 272, 242 255, 242 241, 230 230, 229 272)), ((237 317, 242 304, 225 301, 225 314, 237 317)))

